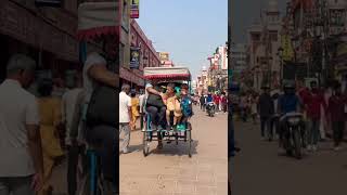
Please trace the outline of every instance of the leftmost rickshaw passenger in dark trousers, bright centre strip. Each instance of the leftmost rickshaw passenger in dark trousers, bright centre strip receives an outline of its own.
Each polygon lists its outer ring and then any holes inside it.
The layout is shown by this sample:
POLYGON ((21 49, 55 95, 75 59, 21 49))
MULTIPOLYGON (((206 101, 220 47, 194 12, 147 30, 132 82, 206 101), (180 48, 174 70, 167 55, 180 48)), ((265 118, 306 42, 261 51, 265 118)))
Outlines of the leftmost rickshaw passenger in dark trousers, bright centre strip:
MULTIPOLYGON (((152 130, 163 130, 163 121, 166 113, 166 106, 163 102, 163 94, 159 92, 159 88, 156 83, 147 83, 145 86, 146 93, 146 112, 151 116, 152 130)), ((163 147, 162 136, 158 133, 158 148, 163 147)))

